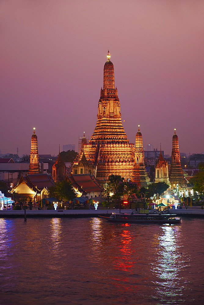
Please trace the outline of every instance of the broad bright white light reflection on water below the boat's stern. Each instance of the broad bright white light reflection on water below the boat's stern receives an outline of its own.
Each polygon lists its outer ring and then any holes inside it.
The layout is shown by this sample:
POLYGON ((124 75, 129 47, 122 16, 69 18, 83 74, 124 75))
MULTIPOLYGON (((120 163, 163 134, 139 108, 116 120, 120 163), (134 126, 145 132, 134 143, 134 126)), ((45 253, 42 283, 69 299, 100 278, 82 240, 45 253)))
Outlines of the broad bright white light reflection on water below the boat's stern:
POLYGON ((181 296, 179 272, 181 270, 179 255, 179 226, 162 227, 163 235, 158 237, 158 253, 154 271, 159 281, 158 293, 163 297, 181 296))

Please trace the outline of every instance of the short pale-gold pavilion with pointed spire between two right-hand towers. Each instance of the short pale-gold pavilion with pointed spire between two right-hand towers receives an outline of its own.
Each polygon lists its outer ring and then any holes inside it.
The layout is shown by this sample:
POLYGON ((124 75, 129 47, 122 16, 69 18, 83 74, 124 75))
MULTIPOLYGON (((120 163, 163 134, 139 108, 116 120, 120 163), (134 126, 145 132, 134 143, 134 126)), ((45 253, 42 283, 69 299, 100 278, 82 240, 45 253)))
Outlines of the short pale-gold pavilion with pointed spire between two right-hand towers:
POLYGON ((160 146, 160 155, 155 166, 155 182, 165 182, 169 184, 168 163, 162 156, 162 148, 160 146))

